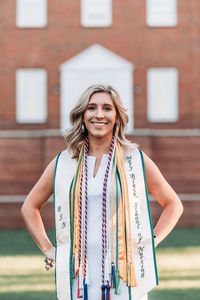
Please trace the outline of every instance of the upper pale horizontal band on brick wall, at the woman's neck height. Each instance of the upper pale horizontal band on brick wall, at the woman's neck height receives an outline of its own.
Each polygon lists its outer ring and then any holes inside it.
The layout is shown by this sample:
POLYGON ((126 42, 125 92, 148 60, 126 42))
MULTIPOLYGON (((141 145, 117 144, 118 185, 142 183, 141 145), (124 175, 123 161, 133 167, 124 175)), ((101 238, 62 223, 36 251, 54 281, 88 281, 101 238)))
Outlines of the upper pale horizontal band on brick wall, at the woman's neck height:
MULTIPOLYGON (((0 130, 0 138, 42 138, 61 137, 60 129, 38 130, 0 130)), ((199 137, 200 129, 149 129, 137 128, 127 136, 154 136, 154 137, 199 137)))

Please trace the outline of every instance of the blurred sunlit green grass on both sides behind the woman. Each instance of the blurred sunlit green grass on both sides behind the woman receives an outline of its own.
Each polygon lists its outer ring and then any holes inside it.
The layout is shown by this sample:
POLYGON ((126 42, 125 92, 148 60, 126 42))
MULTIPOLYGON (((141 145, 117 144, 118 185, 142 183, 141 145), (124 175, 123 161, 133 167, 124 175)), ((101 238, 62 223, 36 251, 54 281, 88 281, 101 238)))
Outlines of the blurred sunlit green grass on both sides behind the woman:
MULTIPOLYGON (((159 287, 149 293, 149 300, 200 299, 199 233, 199 228, 177 228, 158 246, 159 287)), ((53 230, 48 235, 54 241, 53 230)), ((44 270, 43 256, 30 235, 0 230, 0 243, 0 299, 56 299, 54 271, 44 270)))

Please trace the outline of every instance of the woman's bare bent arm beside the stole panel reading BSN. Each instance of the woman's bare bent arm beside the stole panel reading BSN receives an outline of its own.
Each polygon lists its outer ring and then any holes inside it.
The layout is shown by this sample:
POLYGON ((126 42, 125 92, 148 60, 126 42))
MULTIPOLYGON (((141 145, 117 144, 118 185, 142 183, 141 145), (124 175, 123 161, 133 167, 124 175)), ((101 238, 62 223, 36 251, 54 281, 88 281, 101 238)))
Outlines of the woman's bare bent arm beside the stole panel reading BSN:
POLYGON ((52 249, 52 244, 47 237, 40 215, 40 209, 53 194, 55 163, 56 158, 47 166, 46 170, 27 196, 21 209, 28 231, 45 255, 52 249))

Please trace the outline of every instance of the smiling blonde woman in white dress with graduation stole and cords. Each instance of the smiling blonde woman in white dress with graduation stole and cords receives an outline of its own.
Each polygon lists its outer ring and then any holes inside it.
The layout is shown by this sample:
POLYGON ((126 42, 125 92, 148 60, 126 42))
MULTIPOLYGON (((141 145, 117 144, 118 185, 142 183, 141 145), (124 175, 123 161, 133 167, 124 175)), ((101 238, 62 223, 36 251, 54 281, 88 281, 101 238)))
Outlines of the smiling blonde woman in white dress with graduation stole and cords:
POLYGON ((117 91, 93 85, 70 114, 67 150, 46 168, 22 207, 27 228, 56 260, 59 300, 147 299, 157 285, 154 246, 173 229, 182 204, 152 160, 124 136, 117 91), (163 208, 152 229, 148 191, 163 208), (56 246, 40 208, 54 193, 56 246))

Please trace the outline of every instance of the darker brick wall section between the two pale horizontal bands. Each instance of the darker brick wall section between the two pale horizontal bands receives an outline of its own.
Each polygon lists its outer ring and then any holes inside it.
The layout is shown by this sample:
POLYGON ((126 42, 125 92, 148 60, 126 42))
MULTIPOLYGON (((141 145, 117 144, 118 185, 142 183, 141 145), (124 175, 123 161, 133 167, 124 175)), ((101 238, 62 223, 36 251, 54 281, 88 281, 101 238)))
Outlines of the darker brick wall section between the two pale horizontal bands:
MULTIPOLYGON (((200 138, 132 137, 177 193, 200 193, 200 138)), ((0 195, 26 195, 62 150, 62 137, 0 139, 0 195)))

